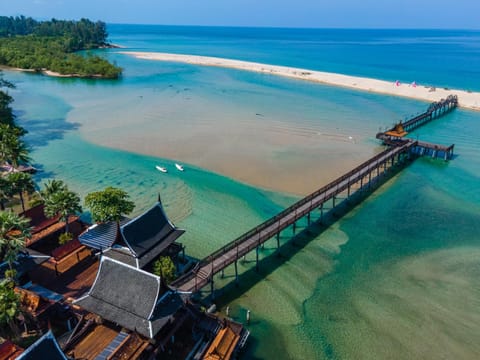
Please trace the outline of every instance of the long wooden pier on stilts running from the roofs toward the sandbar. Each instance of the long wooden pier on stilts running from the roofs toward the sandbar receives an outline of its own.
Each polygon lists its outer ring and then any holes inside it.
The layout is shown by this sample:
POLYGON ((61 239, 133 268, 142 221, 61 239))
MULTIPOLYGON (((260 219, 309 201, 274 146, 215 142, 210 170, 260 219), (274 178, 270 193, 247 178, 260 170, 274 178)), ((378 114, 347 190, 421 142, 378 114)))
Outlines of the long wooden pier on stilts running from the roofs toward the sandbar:
MULTIPOLYGON (((433 103, 422 115, 407 121, 403 125, 409 130, 416 128, 433 118, 439 117, 457 105, 456 96, 449 96, 446 100, 433 103)), ((391 129, 389 131, 392 131, 391 129)), ((388 132, 388 131, 387 131, 388 132)), ((311 223, 311 214, 320 212, 323 217, 326 209, 331 210, 342 200, 350 198, 355 193, 371 188, 372 184, 385 178, 385 174, 401 165, 406 165, 418 156, 441 156, 445 160, 451 158, 453 145, 442 146, 406 139, 402 136, 387 135, 387 132, 377 134, 388 148, 355 169, 340 176, 338 179, 325 185, 314 193, 299 200, 279 214, 256 226, 252 230, 231 241, 217 251, 201 260, 193 270, 175 280, 171 286, 182 292, 197 292, 210 284, 212 296, 214 294, 214 275, 230 266, 235 268, 235 281, 238 283, 238 261, 251 251, 255 250, 256 267, 260 246, 267 240, 276 238, 277 248, 280 247, 280 233, 289 226, 295 234, 296 223, 306 217, 307 224, 311 223)))

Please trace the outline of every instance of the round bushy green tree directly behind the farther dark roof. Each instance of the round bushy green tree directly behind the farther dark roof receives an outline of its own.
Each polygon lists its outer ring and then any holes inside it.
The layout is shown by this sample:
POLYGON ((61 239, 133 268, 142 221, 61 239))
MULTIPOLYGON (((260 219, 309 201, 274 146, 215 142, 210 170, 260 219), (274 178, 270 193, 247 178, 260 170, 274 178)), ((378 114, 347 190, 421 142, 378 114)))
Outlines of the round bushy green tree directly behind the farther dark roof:
POLYGON ((135 208, 135 203, 129 198, 125 191, 109 186, 103 191, 88 194, 85 206, 90 208, 94 221, 119 223, 122 215, 130 214, 135 208))

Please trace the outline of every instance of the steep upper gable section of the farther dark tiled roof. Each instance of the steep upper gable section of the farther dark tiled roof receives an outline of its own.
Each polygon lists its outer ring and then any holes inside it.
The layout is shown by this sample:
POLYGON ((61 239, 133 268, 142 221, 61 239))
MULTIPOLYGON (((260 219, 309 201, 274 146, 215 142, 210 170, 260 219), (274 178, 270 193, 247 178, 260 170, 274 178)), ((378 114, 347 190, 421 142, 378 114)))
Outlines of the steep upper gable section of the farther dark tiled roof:
POLYGON ((168 220, 161 203, 121 226, 120 231, 133 256, 137 258, 153 249, 158 255, 185 232, 168 220))

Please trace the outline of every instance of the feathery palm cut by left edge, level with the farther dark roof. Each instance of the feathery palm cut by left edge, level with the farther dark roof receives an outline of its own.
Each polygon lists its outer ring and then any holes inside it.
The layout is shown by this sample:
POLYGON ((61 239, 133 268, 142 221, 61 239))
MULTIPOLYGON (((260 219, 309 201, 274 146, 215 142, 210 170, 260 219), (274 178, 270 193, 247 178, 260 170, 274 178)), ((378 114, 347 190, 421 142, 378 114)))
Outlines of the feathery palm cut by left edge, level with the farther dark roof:
POLYGON ((31 237, 30 222, 11 211, 0 211, 0 252, 10 270, 25 242, 31 237))

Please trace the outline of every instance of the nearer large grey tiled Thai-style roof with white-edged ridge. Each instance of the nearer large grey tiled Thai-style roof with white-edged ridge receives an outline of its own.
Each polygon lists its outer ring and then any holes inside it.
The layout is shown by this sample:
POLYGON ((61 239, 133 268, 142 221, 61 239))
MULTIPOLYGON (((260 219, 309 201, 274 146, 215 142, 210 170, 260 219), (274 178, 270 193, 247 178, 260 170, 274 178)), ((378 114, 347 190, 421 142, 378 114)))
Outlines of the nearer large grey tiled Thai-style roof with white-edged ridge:
POLYGON ((160 277, 103 256, 92 288, 75 304, 153 338, 183 305, 178 294, 160 290, 160 277))

